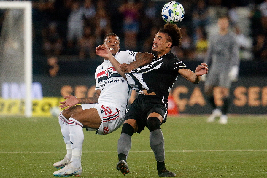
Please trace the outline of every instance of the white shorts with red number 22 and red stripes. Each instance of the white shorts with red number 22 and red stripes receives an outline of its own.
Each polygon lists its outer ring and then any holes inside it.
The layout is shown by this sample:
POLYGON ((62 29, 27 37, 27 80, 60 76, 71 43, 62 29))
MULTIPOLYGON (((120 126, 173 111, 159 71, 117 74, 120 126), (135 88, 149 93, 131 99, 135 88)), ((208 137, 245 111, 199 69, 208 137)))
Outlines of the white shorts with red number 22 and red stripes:
MULTIPOLYGON (((96 134, 106 135, 115 130, 117 130, 121 125, 123 125, 123 120, 125 113, 116 107, 109 106, 107 104, 82 104, 82 109, 96 108, 98 111, 99 117, 102 120, 99 129, 96 131, 96 134)), ((87 131, 92 131, 96 129, 86 128, 87 131)))

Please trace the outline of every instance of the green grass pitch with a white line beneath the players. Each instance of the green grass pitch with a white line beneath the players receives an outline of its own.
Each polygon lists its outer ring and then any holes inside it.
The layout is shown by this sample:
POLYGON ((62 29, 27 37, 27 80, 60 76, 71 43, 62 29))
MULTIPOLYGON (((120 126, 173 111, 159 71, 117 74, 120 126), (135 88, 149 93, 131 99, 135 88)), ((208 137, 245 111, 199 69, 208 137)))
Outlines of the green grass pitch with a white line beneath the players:
MULTIPOLYGON (((1 178, 54 177, 52 165, 66 150, 57 118, 0 118, 0 125, 1 178)), ((266 116, 233 115, 220 125, 206 123, 204 115, 182 115, 168 117, 161 128, 166 167, 177 177, 267 177, 266 116)), ((132 137, 131 173, 116 170, 120 131, 84 131, 82 177, 158 177, 147 128, 132 137)))

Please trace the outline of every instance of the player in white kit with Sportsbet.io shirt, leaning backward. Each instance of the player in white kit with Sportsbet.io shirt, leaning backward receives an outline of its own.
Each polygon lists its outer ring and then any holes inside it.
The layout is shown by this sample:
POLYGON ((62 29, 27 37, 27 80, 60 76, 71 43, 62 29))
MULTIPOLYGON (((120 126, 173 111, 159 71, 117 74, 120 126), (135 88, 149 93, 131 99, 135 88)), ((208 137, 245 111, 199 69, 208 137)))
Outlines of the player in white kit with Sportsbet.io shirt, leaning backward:
MULTIPOLYGON (((107 34, 104 45, 108 47, 117 61, 130 64, 130 69, 150 63, 154 58, 151 53, 122 51, 120 39, 116 34, 107 34)), ((81 155, 86 130, 96 130, 96 134, 105 135, 117 130, 122 124, 131 90, 128 83, 114 69, 108 59, 96 69, 96 96, 76 98, 65 96, 66 101, 60 102, 64 109, 59 114, 59 125, 66 144, 67 154, 63 160, 53 164, 55 176, 80 176, 82 174, 81 155), (81 104, 81 105, 77 105, 81 104)))

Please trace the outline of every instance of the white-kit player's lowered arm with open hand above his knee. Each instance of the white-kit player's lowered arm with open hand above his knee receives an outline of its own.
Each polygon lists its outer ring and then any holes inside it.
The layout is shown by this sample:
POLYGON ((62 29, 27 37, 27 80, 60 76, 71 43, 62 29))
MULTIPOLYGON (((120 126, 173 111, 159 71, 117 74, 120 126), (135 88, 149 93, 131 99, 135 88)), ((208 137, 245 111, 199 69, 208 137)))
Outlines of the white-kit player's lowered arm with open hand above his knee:
MULTIPOLYGON (((62 109, 62 108, 67 107, 67 106, 69 106, 69 107, 75 106, 76 104, 97 103, 98 98, 100 96, 100 93, 101 93, 100 90, 96 90, 96 96, 89 97, 89 98, 77 98, 73 95, 65 96, 64 99, 66 99, 66 100, 59 102, 61 104, 59 107, 61 107, 61 109, 62 109)), ((67 107, 66 110, 68 110, 69 107, 67 107)))

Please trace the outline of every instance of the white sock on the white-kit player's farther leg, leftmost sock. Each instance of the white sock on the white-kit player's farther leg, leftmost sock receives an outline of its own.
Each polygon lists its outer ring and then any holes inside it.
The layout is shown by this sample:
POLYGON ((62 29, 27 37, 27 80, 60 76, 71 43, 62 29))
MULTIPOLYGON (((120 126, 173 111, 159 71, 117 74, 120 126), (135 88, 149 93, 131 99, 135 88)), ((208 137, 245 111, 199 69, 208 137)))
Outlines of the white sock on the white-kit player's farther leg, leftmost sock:
POLYGON ((69 121, 66 117, 63 116, 62 111, 58 115, 58 123, 61 128, 61 133, 63 135, 64 142, 66 144, 67 154, 66 157, 71 159, 71 147, 70 147, 70 138, 69 138, 69 121))

